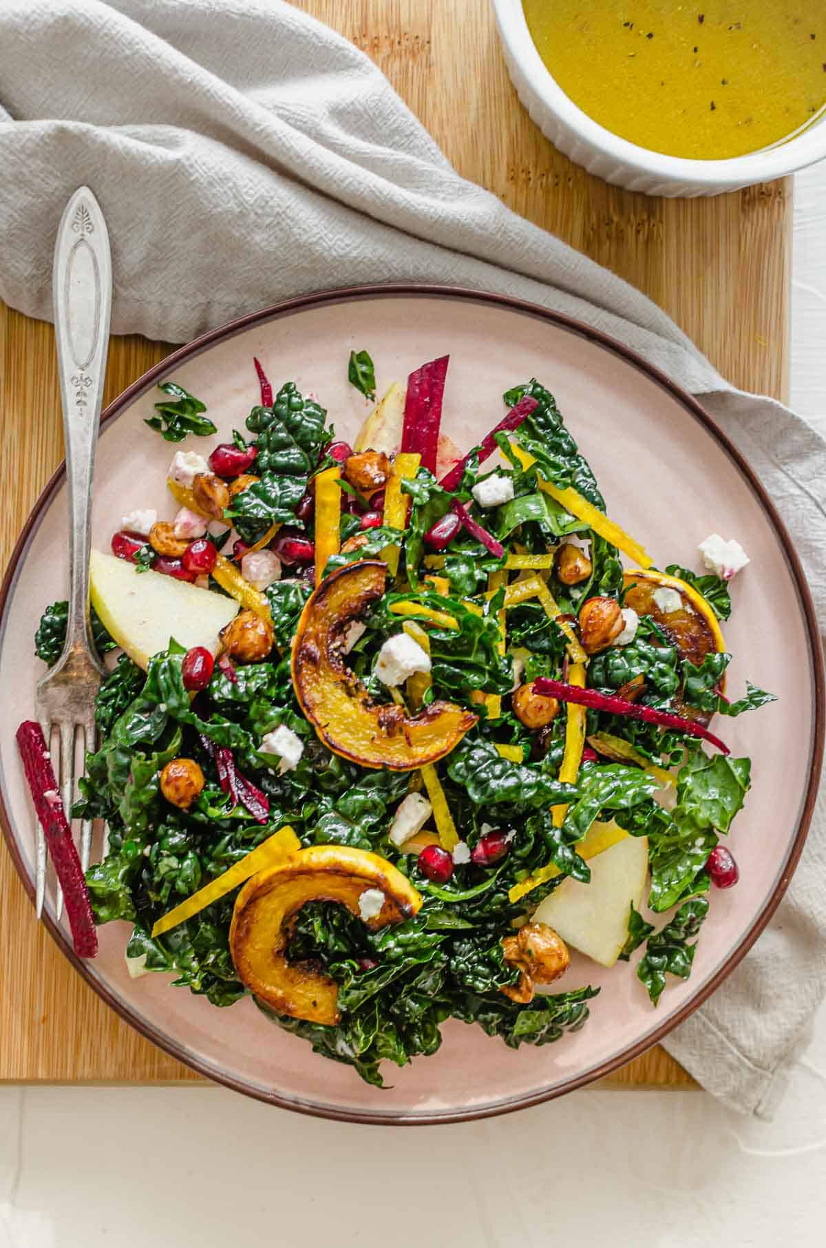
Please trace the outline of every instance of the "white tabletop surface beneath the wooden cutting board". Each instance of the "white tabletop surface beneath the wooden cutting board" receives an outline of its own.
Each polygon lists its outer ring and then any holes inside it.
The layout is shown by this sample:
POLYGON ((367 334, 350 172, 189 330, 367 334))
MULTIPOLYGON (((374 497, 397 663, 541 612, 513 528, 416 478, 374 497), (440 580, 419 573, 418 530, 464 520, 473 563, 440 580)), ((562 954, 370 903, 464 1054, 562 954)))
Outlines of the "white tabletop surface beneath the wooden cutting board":
MULTIPOLYGON (((826 433, 825 205, 826 163, 797 178, 792 302, 792 406, 826 433)), ((814 1248, 825 1178, 824 1013, 772 1123, 701 1092, 382 1129, 218 1088, 0 1088, 0 1248, 814 1248)))

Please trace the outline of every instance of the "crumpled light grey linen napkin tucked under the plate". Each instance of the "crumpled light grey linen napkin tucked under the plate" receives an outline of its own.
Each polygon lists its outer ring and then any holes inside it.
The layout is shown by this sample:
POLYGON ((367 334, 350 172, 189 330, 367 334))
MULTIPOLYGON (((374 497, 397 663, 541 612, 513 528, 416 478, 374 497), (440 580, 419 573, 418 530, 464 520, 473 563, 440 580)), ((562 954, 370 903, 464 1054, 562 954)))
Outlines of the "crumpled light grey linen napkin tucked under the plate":
MULTIPOLYGON (((279 0, 0 0, 0 296, 51 314, 70 193, 110 226, 112 329, 182 342, 328 286, 530 300, 700 396, 777 503, 826 607, 826 443, 732 389, 654 303, 464 181, 376 66, 279 0), (160 278, 160 280, 158 280, 160 278)), ((826 988, 826 810, 775 920, 666 1048, 770 1116, 826 988)))

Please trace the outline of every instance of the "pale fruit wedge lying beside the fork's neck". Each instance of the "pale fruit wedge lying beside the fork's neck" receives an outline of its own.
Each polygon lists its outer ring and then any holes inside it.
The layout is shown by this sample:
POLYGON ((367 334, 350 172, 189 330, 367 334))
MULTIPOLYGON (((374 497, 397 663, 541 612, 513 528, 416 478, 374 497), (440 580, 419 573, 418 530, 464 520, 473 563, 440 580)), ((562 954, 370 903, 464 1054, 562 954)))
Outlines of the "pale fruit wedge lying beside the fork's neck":
POLYGON ((100 550, 91 552, 89 588, 104 626, 145 670, 171 636, 187 650, 203 645, 215 654, 218 633, 238 613, 235 598, 160 572, 137 572, 135 564, 100 550))

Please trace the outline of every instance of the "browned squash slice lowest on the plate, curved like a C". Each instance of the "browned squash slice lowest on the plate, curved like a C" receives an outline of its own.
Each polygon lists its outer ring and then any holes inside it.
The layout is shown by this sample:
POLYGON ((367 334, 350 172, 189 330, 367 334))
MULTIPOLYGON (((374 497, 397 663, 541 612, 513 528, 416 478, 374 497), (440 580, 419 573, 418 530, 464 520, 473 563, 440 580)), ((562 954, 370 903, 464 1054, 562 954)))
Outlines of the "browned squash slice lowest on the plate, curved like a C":
POLYGON ((339 1020, 338 986, 317 966, 289 962, 291 926, 309 901, 338 901, 372 930, 418 914, 422 897, 392 862, 346 845, 313 845, 260 871, 236 899, 230 951, 253 996, 292 1018, 332 1027, 339 1020), (372 905, 362 901, 364 894, 372 905), (381 909, 378 894, 383 895, 381 909))

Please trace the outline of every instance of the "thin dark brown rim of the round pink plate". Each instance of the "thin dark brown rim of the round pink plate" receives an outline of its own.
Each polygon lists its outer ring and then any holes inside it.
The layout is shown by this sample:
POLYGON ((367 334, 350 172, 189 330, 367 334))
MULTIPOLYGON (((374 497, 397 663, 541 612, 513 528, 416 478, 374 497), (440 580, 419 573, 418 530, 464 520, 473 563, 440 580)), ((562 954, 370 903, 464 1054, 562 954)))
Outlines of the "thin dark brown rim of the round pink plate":
MULTIPOLYGON (((820 643, 820 630, 817 625, 817 618, 815 614, 815 605, 812 602, 811 592, 806 582, 806 577, 802 569, 802 564, 795 549, 795 545, 789 535, 789 532, 775 508, 771 497, 769 495, 766 488, 749 466, 745 457, 730 441, 730 438, 722 432, 722 429, 716 424, 716 422, 709 416, 709 413, 701 407, 701 404, 691 396, 688 391, 683 389, 676 382, 674 382, 666 373, 663 373, 654 364, 650 364, 643 356, 638 354, 630 347, 603 333, 600 329, 594 329, 591 326, 585 324, 581 321, 576 321, 574 317, 569 317, 563 312, 554 312, 549 308, 544 308, 537 303, 532 303, 527 300, 513 298, 507 295, 495 295, 488 291, 475 291, 469 287, 460 286, 439 286, 433 283, 418 283, 418 282, 391 282, 382 285, 381 282, 366 285, 366 286, 348 286, 341 288, 329 288, 324 291, 316 291, 309 295, 301 295, 291 300, 283 300, 279 303, 271 305, 270 307, 261 308, 256 312, 247 312, 243 316, 235 317, 231 321, 225 322, 215 329, 210 329, 206 333, 200 334, 192 342, 177 347, 173 352, 166 356, 158 363, 153 364, 145 373, 142 373, 136 381, 126 387, 107 407, 101 416, 101 428, 110 422, 115 421, 125 408, 127 408, 136 398, 150 389, 157 381, 162 379, 168 374, 170 369, 177 367, 201 354, 207 348, 223 342, 236 334, 250 329, 256 324, 262 324, 267 321, 279 319, 293 312, 304 311, 307 308, 324 307, 333 303, 369 300, 369 298, 387 298, 387 297, 424 297, 424 298, 448 298, 448 300, 467 300, 469 302, 480 302, 487 306, 495 306, 512 312, 519 312, 527 316, 532 316, 548 322, 549 324, 556 326, 570 333, 575 333, 596 346, 610 351, 613 354, 619 356, 631 367, 643 372, 648 376, 655 384, 660 386, 663 389, 668 391, 686 411, 694 417, 706 432, 715 438, 715 441, 722 447, 722 449, 732 459, 735 468, 745 478, 749 487, 752 489, 761 504, 769 522, 772 525, 777 535, 777 540, 784 549, 785 557, 789 560, 789 567, 795 582, 795 588, 797 590, 797 598, 804 615, 804 622, 806 626, 806 634, 809 639, 809 658, 812 671, 812 684, 815 689, 815 708, 812 719, 812 749, 810 759, 810 774, 809 784, 806 786, 805 800, 802 802, 797 830, 795 832, 794 841, 789 849, 785 862, 777 875, 777 881, 775 884, 774 891, 769 896, 765 906, 755 917, 755 921, 745 932, 742 940, 731 951, 725 962, 717 968, 717 971, 709 978, 701 988, 696 991, 674 1015, 666 1018, 659 1027, 649 1031, 634 1045, 613 1053, 610 1057, 605 1058, 598 1066, 583 1071, 578 1075, 564 1080, 561 1083, 553 1087, 539 1088, 535 1092, 519 1096, 513 1101, 498 1102, 495 1104, 484 1106, 482 1108, 473 1107, 460 1111, 443 1111, 443 1112, 428 1112, 422 1114, 411 1116, 409 1113, 401 1111, 394 1114, 378 1114, 369 1111, 359 1109, 342 1109, 336 1106, 322 1104, 317 1102, 308 1101, 294 1101, 289 1099, 279 1093, 263 1092, 258 1088, 250 1087, 245 1081, 231 1073, 225 1073, 222 1071, 216 1071, 207 1060, 201 1060, 197 1055, 191 1053, 186 1047, 176 1040, 167 1038, 162 1036, 155 1026, 146 1023, 142 1018, 136 1017, 130 1007, 125 1005, 110 988, 100 982, 95 976, 92 976, 87 963, 84 958, 79 958, 71 945, 67 934, 62 927, 59 927, 51 916, 44 911, 44 924, 49 935, 55 941, 60 951, 67 957, 75 970, 84 977, 84 980, 94 988, 97 996, 101 997, 106 1005, 111 1006, 112 1010, 131 1027, 138 1031, 146 1040, 150 1040, 158 1048, 163 1050, 171 1057, 175 1057, 182 1065, 188 1066, 191 1070, 196 1071, 198 1075, 205 1076, 215 1083, 221 1083, 225 1087, 231 1088, 233 1092, 241 1092, 245 1096, 250 1096, 253 1099, 262 1101, 266 1104, 276 1104, 283 1109, 292 1109, 296 1113, 304 1113, 311 1117, 329 1118, 339 1122, 358 1122, 364 1124, 376 1126, 437 1126, 442 1123, 450 1122, 470 1122, 477 1118, 492 1118, 498 1117, 503 1113, 513 1113, 517 1109, 524 1109, 530 1106, 542 1104, 545 1101, 555 1099, 556 1097, 564 1096, 568 1092, 573 1092, 576 1088, 584 1087, 588 1083, 593 1083, 595 1080, 604 1078, 613 1071, 618 1070, 620 1066, 625 1066, 628 1062, 639 1057, 646 1050, 653 1048, 658 1045, 670 1031, 684 1022, 690 1015, 697 1010, 704 1001, 706 1001, 712 992, 722 983, 722 981, 734 971, 734 968, 740 963, 740 961, 749 952, 751 946, 755 943, 757 937, 761 935, 769 920, 774 915, 775 910, 780 905, 780 901, 789 886, 789 882, 795 872, 800 855, 806 841, 809 832, 809 826, 811 824, 811 817, 815 810, 815 804, 817 799, 817 790, 820 784, 820 773, 824 761, 824 744, 826 740, 826 676, 825 676, 825 664, 824 654, 820 643)), ((0 624, 5 618, 6 604, 9 597, 14 590, 16 582, 17 565, 22 557, 25 555, 29 540, 34 532, 36 530, 40 518, 46 509, 46 507, 54 499, 56 492, 62 485, 66 477, 66 463, 65 461, 56 468, 50 479, 46 482, 44 489, 41 490, 37 500, 35 502, 26 523, 24 524, 20 537, 17 538, 14 550, 9 558, 9 564, 6 567, 2 585, 0 587, 0 624)), ((5 806, 2 789, 0 789, 0 827, 2 829, 2 835, 11 855, 15 870, 20 876, 24 889, 29 895, 29 899, 34 901, 35 896, 35 884, 34 879, 30 876, 19 851, 15 836, 11 831, 11 819, 9 811, 5 806)))

